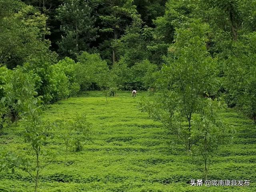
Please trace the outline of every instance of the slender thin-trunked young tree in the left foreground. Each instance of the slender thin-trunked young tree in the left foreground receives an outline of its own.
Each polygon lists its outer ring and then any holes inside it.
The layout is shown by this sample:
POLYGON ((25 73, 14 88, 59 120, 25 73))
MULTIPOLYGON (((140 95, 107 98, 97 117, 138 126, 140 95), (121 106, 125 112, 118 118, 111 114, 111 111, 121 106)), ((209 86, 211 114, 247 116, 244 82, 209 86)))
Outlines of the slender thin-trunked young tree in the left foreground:
POLYGON ((18 149, 18 152, 5 153, 0 161, 0 171, 12 169, 12 173, 14 173, 15 169, 18 168, 27 172, 33 178, 35 182, 34 191, 37 192, 40 172, 55 158, 55 154, 51 150, 43 150, 46 140, 53 136, 49 134, 50 124, 42 122, 40 119, 42 113, 40 97, 34 98, 32 102, 30 102, 30 98, 24 97, 28 102, 26 116, 23 118, 24 139, 30 148, 25 150, 25 153, 24 149, 18 149), (42 159, 47 163, 42 164, 42 159))

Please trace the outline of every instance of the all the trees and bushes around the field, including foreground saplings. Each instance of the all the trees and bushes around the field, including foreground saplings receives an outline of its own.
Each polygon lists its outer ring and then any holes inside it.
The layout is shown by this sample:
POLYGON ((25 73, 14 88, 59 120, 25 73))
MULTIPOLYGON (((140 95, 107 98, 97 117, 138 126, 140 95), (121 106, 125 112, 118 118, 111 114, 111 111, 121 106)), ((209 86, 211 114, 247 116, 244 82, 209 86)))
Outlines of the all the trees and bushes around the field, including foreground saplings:
POLYGON ((0 0, 0 131, 22 126, 37 159, 31 168, 3 150, 0 170, 24 170, 37 191, 51 126, 76 127, 74 151, 91 139, 84 114, 46 124, 49 104, 140 90, 150 98, 139 110, 176 136, 207 180, 236 132, 219 112, 233 108, 256 124, 255 61, 256 0, 0 0))

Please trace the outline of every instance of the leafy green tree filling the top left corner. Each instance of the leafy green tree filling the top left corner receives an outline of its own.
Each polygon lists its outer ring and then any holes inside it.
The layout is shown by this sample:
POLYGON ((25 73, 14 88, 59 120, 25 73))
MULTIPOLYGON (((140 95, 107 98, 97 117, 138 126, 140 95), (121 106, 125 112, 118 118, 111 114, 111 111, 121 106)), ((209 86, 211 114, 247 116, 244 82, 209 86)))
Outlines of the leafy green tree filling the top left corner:
POLYGON ((14 68, 48 49, 49 42, 42 39, 48 34, 46 16, 20 1, 9 3, 0 2, 0 67, 14 68))

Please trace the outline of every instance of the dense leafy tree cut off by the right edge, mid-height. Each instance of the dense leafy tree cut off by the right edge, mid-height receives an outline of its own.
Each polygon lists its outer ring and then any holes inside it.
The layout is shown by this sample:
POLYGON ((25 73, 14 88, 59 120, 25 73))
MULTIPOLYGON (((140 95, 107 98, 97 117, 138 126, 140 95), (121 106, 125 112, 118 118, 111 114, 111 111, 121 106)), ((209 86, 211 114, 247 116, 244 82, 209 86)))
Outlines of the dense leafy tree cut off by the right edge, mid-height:
POLYGON ((254 120, 256 124, 255 101, 255 54, 256 34, 244 35, 232 45, 236 50, 225 61, 224 87, 226 88, 226 100, 230 106, 236 106, 238 110, 254 120))

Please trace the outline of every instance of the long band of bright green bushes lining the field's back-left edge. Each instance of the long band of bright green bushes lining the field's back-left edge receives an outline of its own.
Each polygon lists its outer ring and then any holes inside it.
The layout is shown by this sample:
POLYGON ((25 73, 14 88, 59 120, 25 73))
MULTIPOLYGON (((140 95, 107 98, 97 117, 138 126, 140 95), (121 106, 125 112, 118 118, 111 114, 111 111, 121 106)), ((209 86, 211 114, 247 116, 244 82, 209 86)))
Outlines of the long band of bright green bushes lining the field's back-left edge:
POLYGON ((18 120, 26 112, 27 100, 36 96, 49 104, 86 90, 106 90, 107 96, 115 96, 118 89, 147 90, 158 70, 148 60, 127 66, 124 59, 109 69, 99 54, 88 52, 76 60, 66 57, 57 62, 56 54, 48 51, 16 68, 0 67, 0 126, 18 120))

